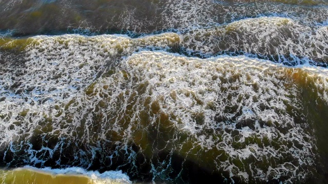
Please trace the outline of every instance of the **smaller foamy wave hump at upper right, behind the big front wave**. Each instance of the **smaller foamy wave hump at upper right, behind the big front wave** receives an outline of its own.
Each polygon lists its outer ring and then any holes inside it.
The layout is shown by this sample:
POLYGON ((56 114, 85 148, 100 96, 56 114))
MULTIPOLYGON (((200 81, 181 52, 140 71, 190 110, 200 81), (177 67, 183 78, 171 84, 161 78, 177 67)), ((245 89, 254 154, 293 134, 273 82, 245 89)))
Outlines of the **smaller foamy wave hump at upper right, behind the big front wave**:
POLYGON ((182 36, 187 53, 262 57, 287 65, 327 65, 326 27, 311 31, 282 17, 242 19, 182 36))

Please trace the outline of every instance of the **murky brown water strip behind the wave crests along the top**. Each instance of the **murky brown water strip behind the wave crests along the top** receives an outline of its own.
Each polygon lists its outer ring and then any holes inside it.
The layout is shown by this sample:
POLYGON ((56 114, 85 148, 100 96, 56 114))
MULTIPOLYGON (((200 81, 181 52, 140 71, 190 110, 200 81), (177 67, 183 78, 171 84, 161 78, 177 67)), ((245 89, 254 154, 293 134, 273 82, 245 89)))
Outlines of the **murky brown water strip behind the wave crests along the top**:
POLYGON ((291 18, 298 24, 317 28, 327 25, 326 5, 326 1, 319 0, 112 0, 97 3, 12 0, 0 2, 0 30, 12 30, 18 36, 68 32, 133 36, 168 30, 184 32, 259 16, 291 18))

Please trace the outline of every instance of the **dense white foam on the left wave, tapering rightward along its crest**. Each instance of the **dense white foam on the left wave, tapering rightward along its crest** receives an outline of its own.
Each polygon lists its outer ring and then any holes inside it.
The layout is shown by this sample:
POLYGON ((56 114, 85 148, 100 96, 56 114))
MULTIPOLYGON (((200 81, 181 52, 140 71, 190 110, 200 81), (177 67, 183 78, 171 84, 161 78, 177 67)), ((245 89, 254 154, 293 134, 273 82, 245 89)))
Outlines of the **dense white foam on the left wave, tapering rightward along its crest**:
MULTIPOLYGON (((0 76, 0 94, 1 98, 5 98, 0 101, 3 122, 0 131, 6 132, 1 135, 1 144, 4 145, 19 140, 17 131, 20 132, 18 134, 24 132, 27 137, 31 137, 33 131, 40 127, 37 122, 44 118, 59 122, 65 112, 60 115, 62 110, 53 107, 56 104, 68 104, 79 97, 96 80, 97 75, 100 76, 107 67, 115 65, 120 56, 142 49, 170 49, 179 43, 179 36, 174 33, 137 39, 124 35, 35 36, 28 38, 27 42, 30 43, 24 50, 24 64, 17 66, 16 60, 4 58, 6 63, 0 69, 3 74, 0 76), (17 122, 22 112, 27 113, 27 116, 18 122, 29 123, 14 126, 13 123, 17 122)), ((13 40, 7 44, 16 42, 13 40)), ((79 105, 76 108, 84 107, 79 105)), ((55 132, 57 127, 51 127, 55 132)))

